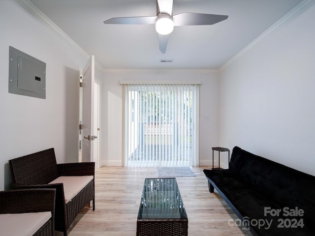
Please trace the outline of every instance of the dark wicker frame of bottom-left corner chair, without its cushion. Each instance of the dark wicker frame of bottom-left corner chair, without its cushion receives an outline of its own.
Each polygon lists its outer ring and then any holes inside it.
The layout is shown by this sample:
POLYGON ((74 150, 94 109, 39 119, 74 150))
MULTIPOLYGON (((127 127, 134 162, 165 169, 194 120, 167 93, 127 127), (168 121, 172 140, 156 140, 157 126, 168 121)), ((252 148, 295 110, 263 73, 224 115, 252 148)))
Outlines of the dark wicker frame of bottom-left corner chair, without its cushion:
POLYGON ((54 236, 56 189, 21 189, 0 192, 0 214, 51 211, 52 217, 33 236, 54 236))

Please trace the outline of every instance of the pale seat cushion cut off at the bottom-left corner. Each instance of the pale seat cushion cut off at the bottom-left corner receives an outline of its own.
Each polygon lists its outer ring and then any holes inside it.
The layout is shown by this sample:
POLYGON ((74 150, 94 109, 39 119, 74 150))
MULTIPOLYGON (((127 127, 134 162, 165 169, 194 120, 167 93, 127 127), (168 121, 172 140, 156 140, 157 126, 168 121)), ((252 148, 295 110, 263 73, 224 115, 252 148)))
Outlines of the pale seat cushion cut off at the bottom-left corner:
POLYGON ((32 236, 50 218, 50 211, 0 214, 0 235, 32 236))

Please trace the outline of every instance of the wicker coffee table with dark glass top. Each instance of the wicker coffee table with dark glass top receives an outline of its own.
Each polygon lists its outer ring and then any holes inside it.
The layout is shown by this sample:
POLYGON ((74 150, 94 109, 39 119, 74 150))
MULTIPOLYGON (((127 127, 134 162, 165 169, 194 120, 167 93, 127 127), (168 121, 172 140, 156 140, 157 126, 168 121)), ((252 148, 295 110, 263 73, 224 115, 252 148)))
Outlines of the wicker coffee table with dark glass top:
POLYGON ((137 236, 187 236, 188 218, 175 178, 146 178, 137 236))

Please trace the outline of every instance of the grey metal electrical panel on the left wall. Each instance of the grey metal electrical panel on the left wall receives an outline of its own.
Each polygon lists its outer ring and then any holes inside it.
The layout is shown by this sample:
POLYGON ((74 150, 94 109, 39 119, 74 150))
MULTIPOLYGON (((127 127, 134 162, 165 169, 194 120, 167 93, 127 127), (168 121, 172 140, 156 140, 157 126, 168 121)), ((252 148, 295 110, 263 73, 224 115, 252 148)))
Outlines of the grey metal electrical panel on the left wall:
POLYGON ((46 98, 46 63, 9 47, 9 93, 46 98))

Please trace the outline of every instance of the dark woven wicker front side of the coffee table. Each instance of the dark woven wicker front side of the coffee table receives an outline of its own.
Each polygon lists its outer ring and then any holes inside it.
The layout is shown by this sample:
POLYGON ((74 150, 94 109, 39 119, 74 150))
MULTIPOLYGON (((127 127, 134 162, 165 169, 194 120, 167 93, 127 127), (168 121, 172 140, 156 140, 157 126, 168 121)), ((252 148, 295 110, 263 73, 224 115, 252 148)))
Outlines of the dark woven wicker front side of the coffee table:
POLYGON ((137 236, 187 236, 188 219, 138 219, 137 236))

